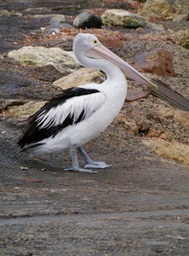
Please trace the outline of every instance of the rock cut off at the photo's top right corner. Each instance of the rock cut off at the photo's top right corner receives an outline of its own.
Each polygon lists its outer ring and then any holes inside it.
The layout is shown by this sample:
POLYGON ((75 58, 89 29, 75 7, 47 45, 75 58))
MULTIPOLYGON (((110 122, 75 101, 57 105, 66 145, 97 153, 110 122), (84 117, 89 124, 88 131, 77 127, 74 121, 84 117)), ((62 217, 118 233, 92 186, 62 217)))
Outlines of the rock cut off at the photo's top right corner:
POLYGON ((176 0, 174 3, 174 8, 176 9, 176 13, 173 21, 189 20, 188 0, 176 0))

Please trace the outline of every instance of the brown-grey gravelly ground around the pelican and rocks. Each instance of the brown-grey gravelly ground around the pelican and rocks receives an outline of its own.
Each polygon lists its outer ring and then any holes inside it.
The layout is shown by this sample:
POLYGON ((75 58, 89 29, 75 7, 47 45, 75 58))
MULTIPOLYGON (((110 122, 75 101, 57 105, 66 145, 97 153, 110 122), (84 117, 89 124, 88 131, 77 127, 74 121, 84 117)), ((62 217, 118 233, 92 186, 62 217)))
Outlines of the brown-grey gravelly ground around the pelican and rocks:
MULTIPOLYGON (((68 21, 89 8, 80 1, 77 9, 75 2, 64 11, 68 21)), ((103 3, 96 2, 99 12, 112 1, 103 3)), ((106 131, 84 146, 93 160, 112 165, 96 174, 66 172, 69 152, 37 156, 17 148, 23 129, 23 119, 16 117, 18 105, 46 101, 59 93, 52 83, 67 73, 50 65, 23 67, 8 53, 26 45, 72 49, 77 29, 63 30, 65 38, 41 30, 49 25, 49 14, 60 14, 61 4, 54 9, 51 1, 0 3, 1 255, 188 255, 189 166, 164 159, 143 143, 160 137, 188 145, 188 128, 174 118, 177 110, 168 102, 153 96, 126 102, 106 131), (31 7, 50 11, 37 18, 23 15, 31 7), (125 121, 135 124, 135 131, 125 121)), ((150 73, 146 77, 162 79, 188 98, 189 52, 176 44, 169 31, 184 29, 188 23, 160 23, 166 28, 163 35, 106 26, 89 32, 125 38, 123 48, 110 49, 130 64, 136 54, 168 49, 174 56, 176 77, 150 73)), ((130 79, 128 84, 141 88, 130 79)), ((83 160, 79 162, 82 166, 83 160)))

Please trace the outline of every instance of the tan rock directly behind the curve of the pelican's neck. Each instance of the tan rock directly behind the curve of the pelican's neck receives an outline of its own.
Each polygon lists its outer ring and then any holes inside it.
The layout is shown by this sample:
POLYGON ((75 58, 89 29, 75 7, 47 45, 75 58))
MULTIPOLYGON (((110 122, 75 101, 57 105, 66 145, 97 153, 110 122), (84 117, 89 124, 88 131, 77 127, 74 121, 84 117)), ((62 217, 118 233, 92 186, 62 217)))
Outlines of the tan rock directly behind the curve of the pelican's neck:
POLYGON ((66 89, 89 83, 100 84, 103 81, 104 76, 102 73, 100 73, 100 71, 83 67, 64 78, 56 80, 53 85, 66 89))

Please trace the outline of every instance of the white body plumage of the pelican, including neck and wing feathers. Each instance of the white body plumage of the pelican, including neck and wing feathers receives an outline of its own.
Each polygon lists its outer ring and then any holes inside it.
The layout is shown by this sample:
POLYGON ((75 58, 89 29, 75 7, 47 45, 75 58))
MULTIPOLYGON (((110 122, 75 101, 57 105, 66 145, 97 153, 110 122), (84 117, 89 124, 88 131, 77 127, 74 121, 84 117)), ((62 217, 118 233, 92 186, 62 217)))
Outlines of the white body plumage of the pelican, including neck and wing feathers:
POLYGON ((47 128, 52 124, 59 125, 69 113, 74 115, 74 119, 77 119, 83 109, 85 118, 76 125, 67 126, 54 137, 43 139, 40 142, 43 145, 35 148, 37 153, 66 150, 71 145, 82 146, 98 136, 116 118, 125 100, 127 82, 118 67, 112 63, 109 65, 112 73, 104 83, 79 86, 100 90, 100 93, 72 97, 59 107, 52 108, 49 113, 41 113, 37 119, 39 128, 47 128))

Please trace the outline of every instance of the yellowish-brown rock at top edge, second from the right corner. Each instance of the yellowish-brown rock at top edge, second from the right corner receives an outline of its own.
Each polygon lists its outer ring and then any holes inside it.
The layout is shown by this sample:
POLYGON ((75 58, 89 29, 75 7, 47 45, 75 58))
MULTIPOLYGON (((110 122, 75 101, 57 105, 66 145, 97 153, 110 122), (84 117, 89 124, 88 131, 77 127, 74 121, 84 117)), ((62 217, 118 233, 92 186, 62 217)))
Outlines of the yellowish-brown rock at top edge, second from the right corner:
POLYGON ((148 0, 138 14, 149 18, 163 16, 170 20, 174 17, 172 6, 167 0, 148 0))

